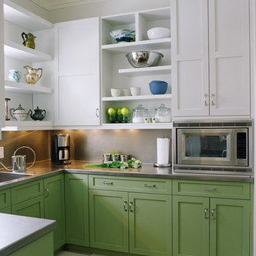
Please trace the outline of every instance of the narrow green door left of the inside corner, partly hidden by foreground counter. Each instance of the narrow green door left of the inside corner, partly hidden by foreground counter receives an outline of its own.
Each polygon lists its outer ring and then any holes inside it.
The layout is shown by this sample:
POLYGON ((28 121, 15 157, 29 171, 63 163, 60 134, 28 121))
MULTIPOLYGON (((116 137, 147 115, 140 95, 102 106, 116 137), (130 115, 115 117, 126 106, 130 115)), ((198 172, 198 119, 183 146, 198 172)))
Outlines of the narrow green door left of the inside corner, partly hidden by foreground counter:
POLYGON ((65 231, 65 200, 64 175, 48 177, 44 185, 44 217, 56 220, 56 229, 53 231, 54 249, 66 243, 65 231))

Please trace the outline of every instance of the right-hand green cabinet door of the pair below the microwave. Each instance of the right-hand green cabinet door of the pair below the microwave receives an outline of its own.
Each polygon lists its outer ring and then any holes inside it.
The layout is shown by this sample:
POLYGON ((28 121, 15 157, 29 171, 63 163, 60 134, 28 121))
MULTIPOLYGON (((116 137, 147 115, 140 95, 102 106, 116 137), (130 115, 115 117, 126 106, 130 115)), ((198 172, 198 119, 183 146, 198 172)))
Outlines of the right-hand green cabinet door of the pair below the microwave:
POLYGON ((210 200, 210 256, 249 255, 249 200, 210 200))

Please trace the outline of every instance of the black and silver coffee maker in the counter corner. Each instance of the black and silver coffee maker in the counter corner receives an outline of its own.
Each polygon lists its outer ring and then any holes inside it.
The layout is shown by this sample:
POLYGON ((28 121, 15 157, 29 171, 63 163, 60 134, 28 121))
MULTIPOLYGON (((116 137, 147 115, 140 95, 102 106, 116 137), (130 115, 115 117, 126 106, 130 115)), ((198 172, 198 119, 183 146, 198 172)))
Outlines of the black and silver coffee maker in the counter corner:
POLYGON ((56 164, 70 163, 70 135, 54 135, 52 140, 52 162, 56 164))

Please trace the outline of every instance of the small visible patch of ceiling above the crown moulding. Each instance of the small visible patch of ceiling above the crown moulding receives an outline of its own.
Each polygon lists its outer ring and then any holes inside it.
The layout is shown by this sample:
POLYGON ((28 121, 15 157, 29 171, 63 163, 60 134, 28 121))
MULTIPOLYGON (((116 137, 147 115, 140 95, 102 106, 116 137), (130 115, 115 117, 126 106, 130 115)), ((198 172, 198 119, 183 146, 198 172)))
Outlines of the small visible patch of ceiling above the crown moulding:
POLYGON ((93 2, 103 2, 105 0, 31 0, 40 7, 51 11, 63 7, 73 7, 81 4, 88 4, 93 2))

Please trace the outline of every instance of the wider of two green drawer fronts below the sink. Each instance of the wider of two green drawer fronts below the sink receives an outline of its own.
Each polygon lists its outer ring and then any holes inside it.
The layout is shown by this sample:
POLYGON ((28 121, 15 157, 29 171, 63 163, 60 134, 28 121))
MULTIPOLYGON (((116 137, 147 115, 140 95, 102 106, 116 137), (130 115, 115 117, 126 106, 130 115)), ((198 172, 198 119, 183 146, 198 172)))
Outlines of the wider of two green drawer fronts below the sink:
POLYGON ((43 180, 11 188, 11 204, 20 203, 43 194, 43 180))

